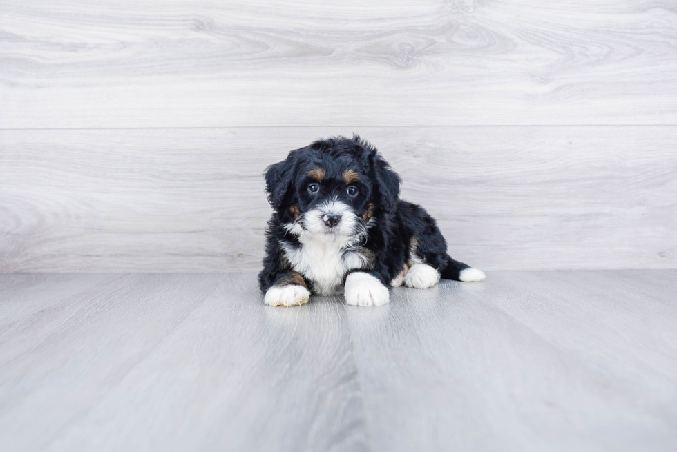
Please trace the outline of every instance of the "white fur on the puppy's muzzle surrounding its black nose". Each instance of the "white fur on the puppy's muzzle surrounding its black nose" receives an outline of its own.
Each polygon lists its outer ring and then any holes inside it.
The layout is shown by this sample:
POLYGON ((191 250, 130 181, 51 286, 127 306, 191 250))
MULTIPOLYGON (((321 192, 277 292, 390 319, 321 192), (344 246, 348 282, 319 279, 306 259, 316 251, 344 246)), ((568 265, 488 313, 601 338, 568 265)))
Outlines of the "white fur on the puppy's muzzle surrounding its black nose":
POLYGON ((303 213, 303 228, 310 234, 316 235, 322 242, 342 242, 350 239, 358 233, 359 219, 347 204, 330 199, 318 205, 316 208, 303 213), (338 215, 341 220, 330 228, 325 224, 324 217, 338 215))

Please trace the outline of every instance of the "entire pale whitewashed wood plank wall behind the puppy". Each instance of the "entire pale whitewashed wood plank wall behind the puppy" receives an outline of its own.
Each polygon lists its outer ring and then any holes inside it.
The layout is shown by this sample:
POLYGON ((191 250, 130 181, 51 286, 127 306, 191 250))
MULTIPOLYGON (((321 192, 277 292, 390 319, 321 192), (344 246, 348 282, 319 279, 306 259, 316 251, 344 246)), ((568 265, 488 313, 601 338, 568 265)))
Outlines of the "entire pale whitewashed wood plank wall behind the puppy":
POLYGON ((677 266, 677 7, 5 0, 0 271, 256 271, 261 174, 357 132, 495 268, 677 266))

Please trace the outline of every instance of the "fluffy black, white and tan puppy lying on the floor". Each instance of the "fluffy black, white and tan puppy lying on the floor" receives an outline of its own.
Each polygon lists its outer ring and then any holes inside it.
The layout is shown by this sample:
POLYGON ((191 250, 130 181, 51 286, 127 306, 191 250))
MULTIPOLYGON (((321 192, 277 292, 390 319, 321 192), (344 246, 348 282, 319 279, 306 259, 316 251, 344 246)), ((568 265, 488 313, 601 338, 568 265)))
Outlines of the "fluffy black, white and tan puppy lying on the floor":
POLYGON ((388 286, 435 286, 440 278, 481 281, 455 261, 421 206, 399 199, 401 179, 360 137, 292 150, 265 173, 274 213, 258 275, 265 304, 294 306, 311 293, 343 292, 347 304, 380 306, 388 286))

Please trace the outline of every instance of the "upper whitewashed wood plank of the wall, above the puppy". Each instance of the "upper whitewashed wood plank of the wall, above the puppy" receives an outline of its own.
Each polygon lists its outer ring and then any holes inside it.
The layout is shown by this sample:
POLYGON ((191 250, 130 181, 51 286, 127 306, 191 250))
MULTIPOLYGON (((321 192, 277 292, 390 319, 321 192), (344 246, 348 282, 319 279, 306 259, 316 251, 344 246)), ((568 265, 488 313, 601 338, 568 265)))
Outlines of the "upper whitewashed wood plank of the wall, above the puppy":
POLYGON ((677 124, 669 1, 4 0, 0 127, 677 124))

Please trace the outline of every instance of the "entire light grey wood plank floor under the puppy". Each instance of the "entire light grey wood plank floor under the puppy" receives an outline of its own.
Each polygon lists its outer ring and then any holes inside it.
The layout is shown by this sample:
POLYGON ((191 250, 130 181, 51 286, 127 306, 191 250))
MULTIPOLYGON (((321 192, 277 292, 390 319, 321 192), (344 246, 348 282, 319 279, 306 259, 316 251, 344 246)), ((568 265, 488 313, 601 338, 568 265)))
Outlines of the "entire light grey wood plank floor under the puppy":
POLYGON ((253 274, 0 275, 14 451, 674 451, 677 270, 493 272, 390 305, 253 274))

